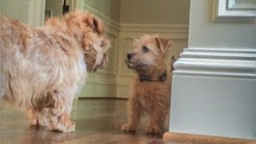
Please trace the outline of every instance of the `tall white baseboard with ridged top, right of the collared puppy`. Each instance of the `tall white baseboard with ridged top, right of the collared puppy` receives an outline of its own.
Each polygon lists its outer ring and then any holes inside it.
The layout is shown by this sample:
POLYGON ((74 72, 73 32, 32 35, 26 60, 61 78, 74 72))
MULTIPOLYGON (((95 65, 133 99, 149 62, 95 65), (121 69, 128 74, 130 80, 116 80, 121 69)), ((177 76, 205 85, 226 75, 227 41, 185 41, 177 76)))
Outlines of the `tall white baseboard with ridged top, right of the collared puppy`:
POLYGON ((174 68, 170 132, 256 139, 256 50, 189 48, 174 68))

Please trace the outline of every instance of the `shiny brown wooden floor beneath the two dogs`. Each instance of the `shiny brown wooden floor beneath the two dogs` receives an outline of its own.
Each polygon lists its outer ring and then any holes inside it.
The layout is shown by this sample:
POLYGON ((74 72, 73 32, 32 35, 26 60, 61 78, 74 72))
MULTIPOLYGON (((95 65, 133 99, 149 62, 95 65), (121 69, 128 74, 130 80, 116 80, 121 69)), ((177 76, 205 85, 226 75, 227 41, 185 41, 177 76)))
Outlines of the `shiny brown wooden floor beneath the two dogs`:
POLYGON ((120 130, 126 122, 126 100, 82 99, 74 102, 74 133, 58 133, 29 126, 22 111, 1 102, 0 143, 162 143, 162 135, 145 134, 142 119, 135 134, 120 130))

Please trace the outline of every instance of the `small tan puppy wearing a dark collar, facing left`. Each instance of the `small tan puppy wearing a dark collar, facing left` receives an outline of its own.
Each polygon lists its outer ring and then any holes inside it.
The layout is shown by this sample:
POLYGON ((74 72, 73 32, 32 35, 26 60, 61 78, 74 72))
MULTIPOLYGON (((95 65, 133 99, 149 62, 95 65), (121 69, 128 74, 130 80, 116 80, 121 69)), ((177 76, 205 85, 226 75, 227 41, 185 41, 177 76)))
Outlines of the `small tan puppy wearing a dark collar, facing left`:
POLYGON ((166 70, 170 45, 168 39, 144 35, 135 40, 134 50, 127 54, 126 64, 138 77, 131 83, 129 118, 122 130, 135 131, 141 114, 146 112, 150 116, 147 133, 162 132, 170 109, 171 72, 166 70))

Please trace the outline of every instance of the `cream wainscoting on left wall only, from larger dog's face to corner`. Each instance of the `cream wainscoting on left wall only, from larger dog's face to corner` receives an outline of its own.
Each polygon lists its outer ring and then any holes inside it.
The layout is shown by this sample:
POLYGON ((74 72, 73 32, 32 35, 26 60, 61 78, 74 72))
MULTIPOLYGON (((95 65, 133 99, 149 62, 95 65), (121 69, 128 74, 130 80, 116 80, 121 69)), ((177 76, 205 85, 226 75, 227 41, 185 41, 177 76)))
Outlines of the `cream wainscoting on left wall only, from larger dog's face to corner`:
POLYGON ((110 39, 110 49, 108 51, 109 62, 102 70, 89 74, 86 85, 83 86, 79 97, 115 97, 116 96, 116 63, 118 53, 119 24, 111 18, 94 10, 92 7, 78 1, 79 9, 87 10, 101 18, 105 24, 106 37, 110 39))

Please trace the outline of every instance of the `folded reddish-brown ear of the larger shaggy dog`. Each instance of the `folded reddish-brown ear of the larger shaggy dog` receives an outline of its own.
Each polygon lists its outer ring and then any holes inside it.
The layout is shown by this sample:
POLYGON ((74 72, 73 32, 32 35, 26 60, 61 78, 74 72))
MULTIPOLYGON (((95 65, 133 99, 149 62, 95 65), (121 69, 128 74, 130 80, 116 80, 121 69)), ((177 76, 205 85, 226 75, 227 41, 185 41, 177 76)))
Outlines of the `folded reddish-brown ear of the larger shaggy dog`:
POLYGON ((88 18, 84 20, 84 22, 86 22, 86 25, 89 26, 95 33, 105 33, 103 22, 100 19, 94 17, 94 15, 90 14, 88 18))

